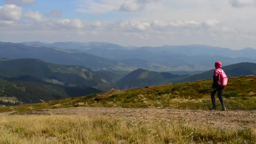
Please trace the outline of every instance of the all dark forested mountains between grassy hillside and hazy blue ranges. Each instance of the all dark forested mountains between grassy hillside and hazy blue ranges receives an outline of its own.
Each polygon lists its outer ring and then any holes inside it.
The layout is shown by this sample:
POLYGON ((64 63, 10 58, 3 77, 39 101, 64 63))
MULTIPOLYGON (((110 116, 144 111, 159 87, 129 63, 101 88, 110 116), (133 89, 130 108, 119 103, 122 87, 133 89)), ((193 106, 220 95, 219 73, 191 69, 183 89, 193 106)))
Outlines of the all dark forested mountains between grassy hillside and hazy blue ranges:
MULTIPOLYGON (((228 77, 256 75, 255 63, 232 64, 223 69, 228 77)), ((154 72, 146 69, 136 69, 128 73, 93 71, 85 67, 52 64, 38 59, 1 58, 0 100, 8 102, 8 99, 14 99, 22 103, 35 103, 40 99, 49 101, 101 93, 110 88, 143 88, 211 79, 212 75, 213 69, 197 75, 173 75, 169 72, 154 72)))

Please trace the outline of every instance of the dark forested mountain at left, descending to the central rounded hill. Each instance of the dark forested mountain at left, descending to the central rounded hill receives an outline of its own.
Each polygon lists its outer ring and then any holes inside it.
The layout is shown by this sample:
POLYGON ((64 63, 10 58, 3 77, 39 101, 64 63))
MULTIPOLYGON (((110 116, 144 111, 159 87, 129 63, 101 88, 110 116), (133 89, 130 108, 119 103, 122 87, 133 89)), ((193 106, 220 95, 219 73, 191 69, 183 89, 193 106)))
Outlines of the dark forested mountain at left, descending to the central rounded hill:
POLYGON ((34 81, 107 90, 123 75, 109 71, 93 71, 80 66, 51 64, 38 59, 0 61, 0 78, 5 80, 34 81))

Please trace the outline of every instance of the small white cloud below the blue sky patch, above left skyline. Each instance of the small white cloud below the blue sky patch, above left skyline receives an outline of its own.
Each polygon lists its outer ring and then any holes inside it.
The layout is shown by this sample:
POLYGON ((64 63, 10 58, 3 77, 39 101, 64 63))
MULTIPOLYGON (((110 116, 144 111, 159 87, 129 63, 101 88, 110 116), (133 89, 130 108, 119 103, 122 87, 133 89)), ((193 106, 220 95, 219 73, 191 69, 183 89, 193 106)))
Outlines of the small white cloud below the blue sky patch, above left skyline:
POLYGON ((62 27, 65 27, 65 28, 77 28, 77 29, 80 29, 80 28, 84 27, 84 25, 82 24, 80 19, 74 19, 74 20, 61 19, 61 20, 57 21, 57 24, 59 24, 62 27))

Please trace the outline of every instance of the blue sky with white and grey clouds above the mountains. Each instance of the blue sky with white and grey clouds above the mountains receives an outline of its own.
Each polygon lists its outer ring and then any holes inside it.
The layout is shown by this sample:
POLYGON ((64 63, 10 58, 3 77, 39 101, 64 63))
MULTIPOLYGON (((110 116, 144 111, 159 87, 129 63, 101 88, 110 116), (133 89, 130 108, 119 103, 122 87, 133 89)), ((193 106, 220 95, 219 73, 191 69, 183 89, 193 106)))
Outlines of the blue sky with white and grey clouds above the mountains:
POLYGON ((256 48, 256 0, 0 0, 0 41, 256 48))

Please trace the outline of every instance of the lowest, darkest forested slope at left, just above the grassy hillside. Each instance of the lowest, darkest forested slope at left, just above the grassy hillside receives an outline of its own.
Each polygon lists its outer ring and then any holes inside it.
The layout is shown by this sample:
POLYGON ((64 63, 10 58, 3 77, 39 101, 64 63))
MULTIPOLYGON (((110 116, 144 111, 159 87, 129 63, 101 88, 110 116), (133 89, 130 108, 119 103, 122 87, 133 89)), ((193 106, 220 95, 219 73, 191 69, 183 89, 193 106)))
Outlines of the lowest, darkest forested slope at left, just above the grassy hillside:
POLYGON ((41 100, 50 101, 101 92, 95 88, 65 87, 0 79, 0 100, 5 102, 37 103, 41 100))

